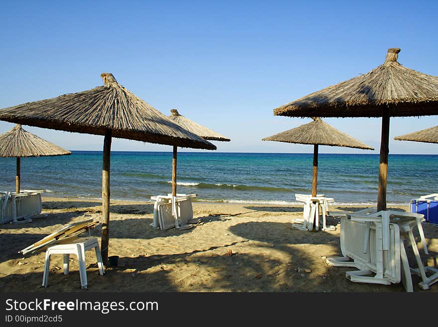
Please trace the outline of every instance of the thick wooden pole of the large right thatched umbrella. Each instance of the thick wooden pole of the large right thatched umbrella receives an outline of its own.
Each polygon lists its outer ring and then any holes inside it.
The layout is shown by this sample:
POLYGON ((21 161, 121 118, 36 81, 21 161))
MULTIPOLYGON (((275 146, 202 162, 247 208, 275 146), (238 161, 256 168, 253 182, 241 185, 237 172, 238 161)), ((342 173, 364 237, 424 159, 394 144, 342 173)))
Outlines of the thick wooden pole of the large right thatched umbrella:
POLYGON ((386 180, 388 175, 389 154, 389 109, 382 114, 382 137, 380 140, 379 189, 377 193, 377 211, 386 210, 386 180))

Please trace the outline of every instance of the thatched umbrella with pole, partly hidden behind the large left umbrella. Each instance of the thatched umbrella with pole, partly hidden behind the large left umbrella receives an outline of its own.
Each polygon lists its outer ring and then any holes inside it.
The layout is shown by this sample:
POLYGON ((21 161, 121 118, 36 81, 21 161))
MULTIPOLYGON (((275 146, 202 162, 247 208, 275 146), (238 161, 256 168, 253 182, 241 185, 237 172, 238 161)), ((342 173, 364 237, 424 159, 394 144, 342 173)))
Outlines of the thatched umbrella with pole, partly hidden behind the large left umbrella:
MULTIPOLYGON (((174 123, 180 125, 184 129, 187 129, 191 133, 201 136, 206 140, 213 141, 230 141, 228 137, 220 135, 219 133, 211 130, 210 128, 204 127, 197 122, 194 122, 185 116, 179 114, 177 109, 171 109, 172 114, 168 116, 170 120, 174 123)), ((177 150, 178 146, 173 146, 173 159, 172 159, 172 196, 176 196, 176 166, 177 166, 177 150)))

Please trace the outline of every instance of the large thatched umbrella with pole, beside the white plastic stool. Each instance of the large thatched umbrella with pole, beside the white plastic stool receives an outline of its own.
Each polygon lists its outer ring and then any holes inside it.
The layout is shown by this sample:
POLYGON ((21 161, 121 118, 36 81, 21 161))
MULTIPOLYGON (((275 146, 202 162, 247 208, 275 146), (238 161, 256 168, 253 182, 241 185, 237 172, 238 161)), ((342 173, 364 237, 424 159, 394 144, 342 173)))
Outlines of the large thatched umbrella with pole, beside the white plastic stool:
POLYGON ((104 86, 57 98, 0 109, 0 119, 43 128, 105 135, 102 171, 102 245, 109 244, 109 162, 111 138, 215 150, 216 146, 170 121, 103 73, 104 86))

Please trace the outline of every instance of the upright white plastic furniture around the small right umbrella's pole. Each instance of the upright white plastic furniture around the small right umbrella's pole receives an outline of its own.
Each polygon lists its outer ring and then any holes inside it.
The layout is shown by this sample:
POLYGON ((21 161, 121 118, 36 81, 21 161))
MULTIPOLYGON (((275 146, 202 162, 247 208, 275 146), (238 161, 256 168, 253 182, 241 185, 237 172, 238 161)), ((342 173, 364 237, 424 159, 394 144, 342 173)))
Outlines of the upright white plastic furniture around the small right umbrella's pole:
POLYGON ((334 202, 333 198, 327 198, 324 194, 317 194, 316 197, 306 194, 295 194, 298 202, 304 202, 302 219, 294 219, 292 226, 302 230, 319 230, 320 216, 323 218, 322 230, 334 230, 335 226, 327 226, 326 218, 329 211, 329 203, 334 202))

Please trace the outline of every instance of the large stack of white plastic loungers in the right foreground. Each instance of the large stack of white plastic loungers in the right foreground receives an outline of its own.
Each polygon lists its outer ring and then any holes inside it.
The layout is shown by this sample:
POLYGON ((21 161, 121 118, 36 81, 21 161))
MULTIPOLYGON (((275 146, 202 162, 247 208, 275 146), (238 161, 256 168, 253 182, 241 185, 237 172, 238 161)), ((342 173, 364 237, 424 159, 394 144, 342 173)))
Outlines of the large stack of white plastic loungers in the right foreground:
POLYGON ((365 210, 361 213, 338 214, 341 217, 340 246, 343 257, 328 258, 333 266, 355 267, 346 277, 353 282, 389 285, 402 282, 407 292, 413 292, 411 274, 422 278, 419 286, 428 289, 438 281, 438 270, 425 267, 413 235, 418 227, 425 253, 428 253, 421 222, 424 215, 399 211, 365 210), (411 268, 404 241, 414 251, 417 268, 411 268), (427 273, 432 275, 427 276, 427 273))

